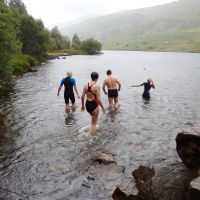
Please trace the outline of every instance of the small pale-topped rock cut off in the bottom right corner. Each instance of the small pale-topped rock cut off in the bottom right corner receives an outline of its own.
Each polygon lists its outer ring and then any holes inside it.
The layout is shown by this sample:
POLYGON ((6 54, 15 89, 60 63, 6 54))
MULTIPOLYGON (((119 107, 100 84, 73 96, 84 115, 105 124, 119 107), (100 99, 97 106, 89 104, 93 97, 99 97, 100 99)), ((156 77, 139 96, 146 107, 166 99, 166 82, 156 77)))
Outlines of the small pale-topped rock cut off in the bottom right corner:
POLYGON ((189 191, 190 200, 200 199, 200 177, 197 177, 190 182, 189 191))

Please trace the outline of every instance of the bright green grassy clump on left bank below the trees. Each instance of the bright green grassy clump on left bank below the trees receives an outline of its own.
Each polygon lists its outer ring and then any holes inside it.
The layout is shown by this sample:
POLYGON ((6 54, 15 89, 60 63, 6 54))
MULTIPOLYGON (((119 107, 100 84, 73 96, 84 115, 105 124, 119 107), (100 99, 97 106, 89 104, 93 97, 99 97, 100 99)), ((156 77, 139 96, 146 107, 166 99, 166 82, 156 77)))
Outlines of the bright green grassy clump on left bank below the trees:
POLYGON ((13 75, 22 75, 27 72, 32 66, 37 64, 37 60, 33 56, 19 55, 12 59, 13 75))

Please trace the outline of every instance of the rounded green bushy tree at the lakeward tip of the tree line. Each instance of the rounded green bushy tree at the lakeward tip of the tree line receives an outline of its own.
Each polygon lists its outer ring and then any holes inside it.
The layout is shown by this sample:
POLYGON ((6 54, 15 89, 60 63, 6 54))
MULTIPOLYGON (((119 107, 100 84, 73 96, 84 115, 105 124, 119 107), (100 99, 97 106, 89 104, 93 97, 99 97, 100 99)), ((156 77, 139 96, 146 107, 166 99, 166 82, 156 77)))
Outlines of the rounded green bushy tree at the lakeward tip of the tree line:
POLYGON ((94 39, 83 40, 81 44, 81 50, 87 52, 89 55, 99 54, 101 51, 102 45, 100 42, 94 39))

